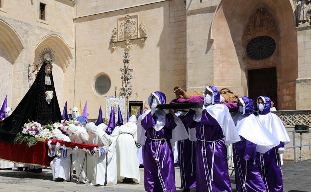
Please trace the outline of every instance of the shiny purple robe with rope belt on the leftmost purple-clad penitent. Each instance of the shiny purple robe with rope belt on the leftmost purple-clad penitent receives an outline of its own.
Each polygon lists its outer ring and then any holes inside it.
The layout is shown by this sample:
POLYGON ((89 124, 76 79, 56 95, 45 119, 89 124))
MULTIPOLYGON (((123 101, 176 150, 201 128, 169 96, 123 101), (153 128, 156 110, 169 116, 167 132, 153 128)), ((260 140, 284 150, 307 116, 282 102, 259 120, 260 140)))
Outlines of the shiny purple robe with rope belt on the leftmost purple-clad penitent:
POLYGON ((144 154, 144 185, 147 192, 175 192, 174 157, 170 139, 176 127, 172 114, 166 114, 165 126, 156 131, 157 122, 151 112, 142 119, 141 125, 147 137, 144 154))

